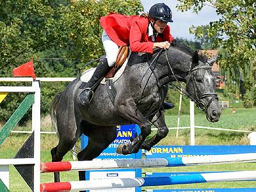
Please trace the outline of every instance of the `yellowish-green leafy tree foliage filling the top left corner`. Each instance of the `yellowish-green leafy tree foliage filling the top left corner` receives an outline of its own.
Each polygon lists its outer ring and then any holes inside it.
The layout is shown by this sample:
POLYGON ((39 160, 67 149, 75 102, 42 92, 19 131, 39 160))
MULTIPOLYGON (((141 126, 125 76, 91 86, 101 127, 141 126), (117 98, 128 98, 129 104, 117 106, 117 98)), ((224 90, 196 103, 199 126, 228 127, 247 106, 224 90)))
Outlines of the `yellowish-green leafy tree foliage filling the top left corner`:
POLYGON ((13 67, 54 45, 56 14, 58 6, 49 1, 1 1, 1 76, 10 76, 13 67))

